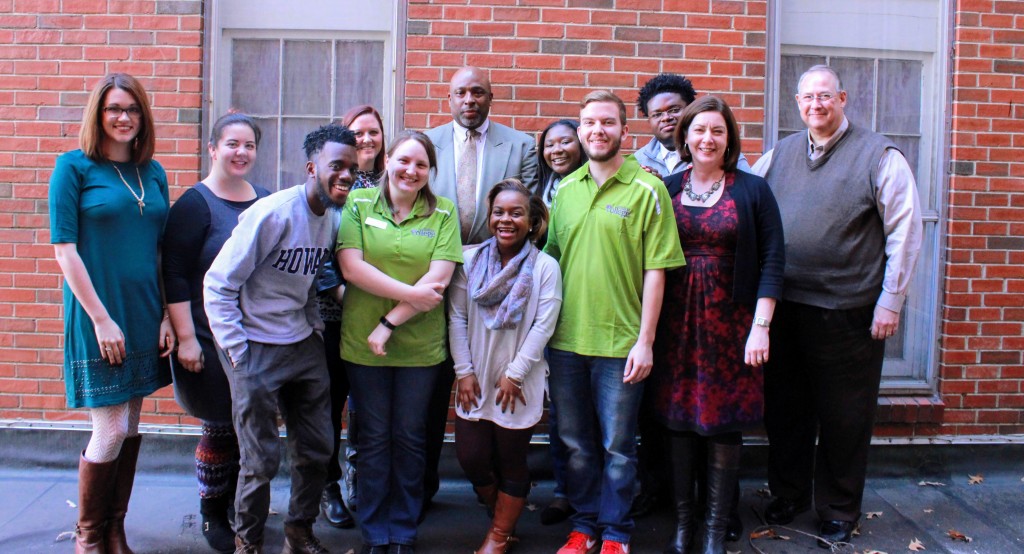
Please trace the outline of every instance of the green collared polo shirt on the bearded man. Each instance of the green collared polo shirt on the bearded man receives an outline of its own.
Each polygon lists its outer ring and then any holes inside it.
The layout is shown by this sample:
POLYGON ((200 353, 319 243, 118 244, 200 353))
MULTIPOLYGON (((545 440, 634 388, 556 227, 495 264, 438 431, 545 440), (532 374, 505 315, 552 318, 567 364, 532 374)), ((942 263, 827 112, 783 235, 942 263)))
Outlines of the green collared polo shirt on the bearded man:
POLYGON ((601 186, 590 162, 562 179, 544 250, 559 261, 563 284, 549 346, 583 355, 629 355, 644 271, 686 263, 669 193, 632 155, 601 186))

